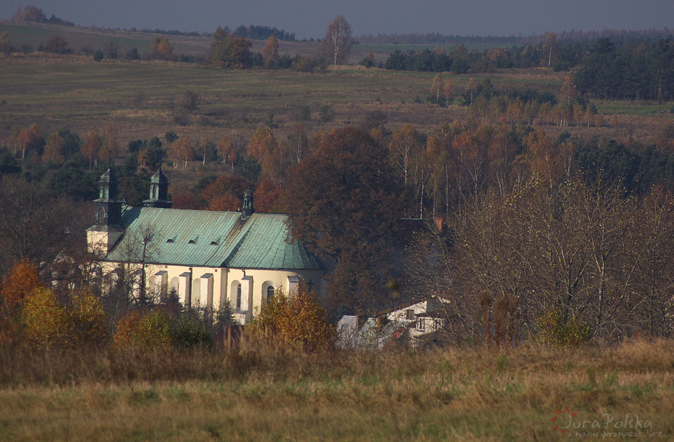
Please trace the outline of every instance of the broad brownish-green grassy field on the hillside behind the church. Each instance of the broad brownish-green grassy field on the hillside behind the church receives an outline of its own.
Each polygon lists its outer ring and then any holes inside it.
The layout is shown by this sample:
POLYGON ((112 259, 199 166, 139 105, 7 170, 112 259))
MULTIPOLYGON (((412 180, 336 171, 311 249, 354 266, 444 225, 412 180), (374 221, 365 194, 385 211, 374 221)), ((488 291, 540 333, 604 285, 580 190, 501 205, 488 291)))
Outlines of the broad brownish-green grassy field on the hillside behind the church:
MULTIPOLYGON (((369 111, 386 112, 390 123, 439 124, 464 109, 441 109, 424 100, 434 74, 357 68, 326 74, 290 70, 228 71, 187 63, 94 63, 86 57, 16 59, 0 66, 0 136, 12 126, 37 123, 49 133, 63 126, 100 130, 108 121, 131 138, 169 128, 190 136, 252 133, 274 113, 279 132, 289 130, 300 106, 310 106, 310 128, 318 128, 321 104, 336 110, 331 125, 361 121, 369 111), (186 90, 202 104, 184 125, 174 123, 171 105, 186 90)), ((467 78, 456 78, 457 87, 467 78)))

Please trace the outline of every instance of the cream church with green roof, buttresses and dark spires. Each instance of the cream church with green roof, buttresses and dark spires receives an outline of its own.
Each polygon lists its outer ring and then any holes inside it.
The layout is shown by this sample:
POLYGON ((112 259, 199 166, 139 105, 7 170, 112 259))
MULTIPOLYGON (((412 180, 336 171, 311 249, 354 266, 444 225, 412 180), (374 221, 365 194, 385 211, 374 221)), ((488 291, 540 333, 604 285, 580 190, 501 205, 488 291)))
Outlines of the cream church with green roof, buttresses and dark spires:
POLYGON ((293 293, 300 281, 324 295, 324 264, 290 238, 288 215, 255 213, 250 190, 240 212, 204 211, 172 209, 161 168, 143 207, 118 199, 114 168, 99 183, 87 242, 102 257, 108 286, 123 272, 136 295, 175 290, 185 307, 195 309, 229 302, 240 324, 252 321, 275 290, 293 293))

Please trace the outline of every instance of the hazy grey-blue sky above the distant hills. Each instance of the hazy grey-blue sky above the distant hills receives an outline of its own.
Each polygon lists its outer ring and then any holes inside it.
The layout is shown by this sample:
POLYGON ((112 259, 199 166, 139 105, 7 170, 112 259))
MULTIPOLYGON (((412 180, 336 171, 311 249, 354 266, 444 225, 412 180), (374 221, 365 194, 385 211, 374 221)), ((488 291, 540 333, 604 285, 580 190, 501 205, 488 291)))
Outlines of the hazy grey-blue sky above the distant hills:
POLYGON ((76 25, 212 32, 218 25, 276 26, 322 37, 338 14, 353 35, 439 32, 530 35, 546 31, 674 27, 674 0, 0 0, 0 18, 35 4, 76 25))

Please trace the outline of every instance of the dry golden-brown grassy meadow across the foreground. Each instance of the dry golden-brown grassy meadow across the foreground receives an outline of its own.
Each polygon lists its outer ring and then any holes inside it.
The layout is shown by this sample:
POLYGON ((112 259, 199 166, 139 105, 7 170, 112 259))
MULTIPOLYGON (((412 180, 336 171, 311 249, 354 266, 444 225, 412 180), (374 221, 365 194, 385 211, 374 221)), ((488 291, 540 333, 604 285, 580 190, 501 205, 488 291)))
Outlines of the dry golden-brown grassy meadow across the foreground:
POLYGON ((671 340, 308 355, 255 345, 134 355, 5 349, 0 359, 2 441, 606 441, 674 434, 671 340))

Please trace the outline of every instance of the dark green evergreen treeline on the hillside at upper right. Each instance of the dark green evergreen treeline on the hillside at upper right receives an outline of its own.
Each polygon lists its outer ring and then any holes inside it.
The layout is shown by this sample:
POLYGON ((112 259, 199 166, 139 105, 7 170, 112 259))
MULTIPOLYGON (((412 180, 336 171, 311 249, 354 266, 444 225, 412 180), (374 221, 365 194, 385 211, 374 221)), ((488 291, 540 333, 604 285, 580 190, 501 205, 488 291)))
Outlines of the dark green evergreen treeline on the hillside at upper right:
MULTIPOLYGON (((362 63, 366 63, 363 61, 362 63)), ((382 67, 391 70, 484 73, 496 68, 547 66, 572 70, 579 91, 602 99, 674 99, 674 41, 635 40, 618 47, 601 38, 593 44, 558 43, 554 35, 537 46, 468 51, 393 51, 382 67)))

